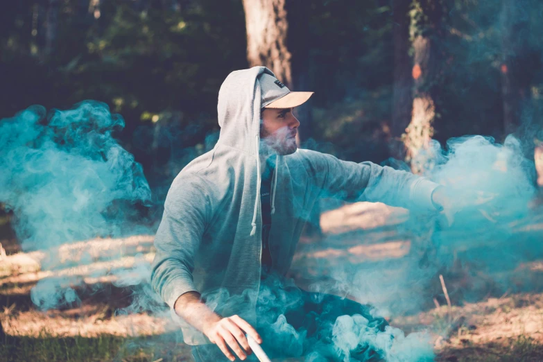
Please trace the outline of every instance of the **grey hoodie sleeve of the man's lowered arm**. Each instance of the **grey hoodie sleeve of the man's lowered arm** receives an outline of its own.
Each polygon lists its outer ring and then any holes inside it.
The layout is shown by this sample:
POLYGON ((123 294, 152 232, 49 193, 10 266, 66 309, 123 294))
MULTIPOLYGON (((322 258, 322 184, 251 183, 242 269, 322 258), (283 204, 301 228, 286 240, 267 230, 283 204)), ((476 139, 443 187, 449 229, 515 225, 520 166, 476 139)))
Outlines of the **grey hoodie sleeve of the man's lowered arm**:
POLYGON ((194 258, 210 209, 202 182, 198 181, 173 182, 155 236, 151 284, 171 308, 180 295, 197 291, 192 277, 194 258))

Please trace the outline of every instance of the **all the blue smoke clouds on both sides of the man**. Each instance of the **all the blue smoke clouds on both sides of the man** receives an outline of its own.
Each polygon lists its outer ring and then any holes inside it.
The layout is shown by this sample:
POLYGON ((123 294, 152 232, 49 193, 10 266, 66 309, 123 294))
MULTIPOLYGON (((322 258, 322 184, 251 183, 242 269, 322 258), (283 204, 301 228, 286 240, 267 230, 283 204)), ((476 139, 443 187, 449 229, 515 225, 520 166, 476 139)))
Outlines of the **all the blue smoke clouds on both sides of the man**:
MULTIPOLYGON (((136 223, 137 209, 150 203, 146 178, 134 157, 112 135, 123 126, 119 115, 95 101, 65 111, 46 112, 44 107, 33 106, 1 121, 0 202, 17 218, 15 230, 23 250, 55 250, 64 243, 96 236, 150 232, 136 223)), ((427 160, 431 168, 426 176, 447 187, 454 223, 449 225, 436 215, 411 214, 395 231, 409 235, 411 249, 422 251, 420 254, 411 252, 404 258, 366 264, 320 265, 330 270, 336 284, 313 285, 313 290, 348 293, 389 316, 419 311, 431 302, 434 292, 428 286, 432 278, 453 268, 456 259, 470 263, 470 273, 488 274, 492 293, 533 288, 531 282, 519 283, 503 273, 543 255, 539 238, 526 232, 526 225, 537 215, 537 208, 530 206, 536 189, 533 162, 523 156, 520 142, 512 136, 503 144, 490 137, 462 137, 450 139, 446 149, 434 142, 427 160)), ((360 241, 363 243, 363 236, 360 241)), ((134 302, 117 311, 120 314, 162 304, 149 286, 148 260, 135 259, 131 268, 115 272, 115 285, 137 290, 134 302)), ((80 258, 81 263, 85 260, 80 258)), ((58 265, 53 255, 42 268, 58 265)), ((463 300, 476 300, 489 292, 488 286, 473 280, 461 288, 463 300)), ((31 298, 41 309, 77 304, 73 286, 78 282, 74 277, 44 279, 33 288, 31 298)), ((260 302, 286 311, 289 301, 284 298, 288 296, 273 300, 277 293, 282 291, 270 289, 266 295, 265 290, 260 302)), ((455 297, 452 291, 451 298, 455 297)), ((208 302, 215 303, 215 308, 221 299, 208 298, 208 302)), ((306 334, 289 325, 284 313, 268 325, 284 349, 293 355, 301 353, 306 334)), ((331 342, 346 358, 356 345, 365 344, 382 352, 387 361, 433 359, 431 338, 425 332, 405 336, 390 326, 376 331, 360 315, 340 316, 330 328, 331 342)), ((318 358, 313 354, 308 361, 318 358)))

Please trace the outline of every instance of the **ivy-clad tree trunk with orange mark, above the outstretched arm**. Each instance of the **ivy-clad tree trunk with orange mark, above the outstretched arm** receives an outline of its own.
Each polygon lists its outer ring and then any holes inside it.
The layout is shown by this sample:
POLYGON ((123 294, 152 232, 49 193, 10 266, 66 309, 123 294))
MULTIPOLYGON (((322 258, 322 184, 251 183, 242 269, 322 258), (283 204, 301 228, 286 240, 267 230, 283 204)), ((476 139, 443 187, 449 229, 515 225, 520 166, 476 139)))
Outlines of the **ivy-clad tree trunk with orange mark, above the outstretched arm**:
POLYGON ((415 90, 413 115, 406 133, 402 137, 406 145, 408 161, 414 173, 429 169, 430 151, 428 146, 433 136, 432 123, 440 105, 442 86, 442 64, 445 52, 447 19, 446 0, 415 0, 411 19, 411 40, 415 54, 412 70, 415 90))

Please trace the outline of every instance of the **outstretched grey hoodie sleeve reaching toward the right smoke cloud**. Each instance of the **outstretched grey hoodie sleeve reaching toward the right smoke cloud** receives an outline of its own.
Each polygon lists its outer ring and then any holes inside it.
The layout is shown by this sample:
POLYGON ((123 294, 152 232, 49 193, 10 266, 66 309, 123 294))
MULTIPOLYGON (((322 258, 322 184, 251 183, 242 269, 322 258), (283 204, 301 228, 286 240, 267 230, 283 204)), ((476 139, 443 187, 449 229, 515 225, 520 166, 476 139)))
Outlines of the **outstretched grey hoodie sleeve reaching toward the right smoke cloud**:
POLYGON ((426 178, 372 162, 342 161, 325 153, 314 153, 313 171, 322 173, 321 197, 342 200, 383 202, 390 206, 436 211, 432 193, 440 185, 426 178))

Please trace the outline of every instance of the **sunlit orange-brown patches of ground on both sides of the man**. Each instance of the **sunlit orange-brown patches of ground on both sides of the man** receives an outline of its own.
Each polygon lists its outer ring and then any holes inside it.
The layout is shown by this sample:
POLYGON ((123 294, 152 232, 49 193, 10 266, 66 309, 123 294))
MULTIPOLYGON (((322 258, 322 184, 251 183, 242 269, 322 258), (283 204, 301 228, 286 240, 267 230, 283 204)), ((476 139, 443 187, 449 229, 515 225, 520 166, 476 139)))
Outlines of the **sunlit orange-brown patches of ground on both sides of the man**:
MULTIPOLYGON (((411 241, 398 234, 395 225, 403 223, 407 217, 408 212, 404 209, 369 202, 325 212, 321 225, 327 243, 300 244, 293 261, 294 269, 303 261, 302 265, 307 268, 315 268, 313 272, 326 274, 327 264, 356 265, 391 260, 397 261, 397 268, 386 270, 387 275, 400 275, 402 263, 411 250, 411 241), (361 231, 364 243, 360 243, 361 234, 356 234, 361 231), (341 243, 336 243, 334 238, 342 233, 345 235, 341 243)), ((537 220, 543 221, 543 218, 537 220)), ((518 231, 542 229, 542 223, 511 226, 518 231)), ((176 331, 177 326, 168 313, 164 316, 116 313, 132 298, 130 288, 114 286, 118 280, 116 273, 130 270, 138 261, 150 262, 153 257, 151 235, 92 239, 62 245, 49 252, 2 255, 0 307, 3 310, 0 310, 0 321, 3 329, 10 336, 33 337, 44 334, 53 337, 156 336, 176 331), (48 278, 64 278, 66 286, 82 284, 80 304, 62 310, 37 311, 30 300, 30 291, 37 282, 48 278), (98 291, 105 286, 112 291, 102 295, 98 291)), ((542 270, 541 261, 531 261, 519 265, 515 273, 542 270)), ((502 298, 488 298, 451 309, 442 305, 411 316, 393 316, 390 323, 406 332, 429 329, 436 351, 446 355, 442 361, 472 361, 459 351, 469 348, 489 350, 489 343, 510 346, 524 336, 543 343, 543 294, 506 294, 502 298)))

